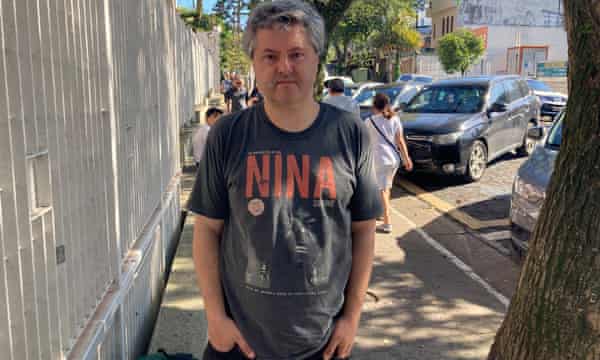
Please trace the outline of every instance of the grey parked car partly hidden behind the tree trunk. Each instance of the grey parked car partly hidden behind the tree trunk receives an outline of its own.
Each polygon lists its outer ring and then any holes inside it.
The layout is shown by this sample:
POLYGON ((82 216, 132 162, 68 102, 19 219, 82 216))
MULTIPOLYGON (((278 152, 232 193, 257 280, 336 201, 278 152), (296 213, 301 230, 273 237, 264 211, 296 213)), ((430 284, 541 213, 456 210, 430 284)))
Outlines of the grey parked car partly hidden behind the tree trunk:
MULTIPOLYGON (((513 247, 521 255, 529 247, 529 238, 546 198, 546 188, 554 171, 554 162, 562 141, 564 111, 554 121, 541 146, 519 168, 510 200, 510 234, 513 247)), ((530 130, 529 136, 540 139, 541 128, 530 130)))

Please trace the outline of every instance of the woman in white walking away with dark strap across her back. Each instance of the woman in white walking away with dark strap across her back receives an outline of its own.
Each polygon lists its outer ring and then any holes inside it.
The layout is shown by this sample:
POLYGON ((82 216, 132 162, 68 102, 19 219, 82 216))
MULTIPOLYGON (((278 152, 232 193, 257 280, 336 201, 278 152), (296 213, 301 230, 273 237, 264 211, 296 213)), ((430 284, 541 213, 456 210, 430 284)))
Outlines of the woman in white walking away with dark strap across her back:
POLYGON ((377 231, 391 233, 390 193, 394 174, 401 164, 406 171, 411 171, 413 164, 404 141, 402 123, 392 111, 387 95, 375 95, 373 115, 367 118, 367 127, 374 147, 375 174, 383 203, 383 224, 377 227, 377 231))

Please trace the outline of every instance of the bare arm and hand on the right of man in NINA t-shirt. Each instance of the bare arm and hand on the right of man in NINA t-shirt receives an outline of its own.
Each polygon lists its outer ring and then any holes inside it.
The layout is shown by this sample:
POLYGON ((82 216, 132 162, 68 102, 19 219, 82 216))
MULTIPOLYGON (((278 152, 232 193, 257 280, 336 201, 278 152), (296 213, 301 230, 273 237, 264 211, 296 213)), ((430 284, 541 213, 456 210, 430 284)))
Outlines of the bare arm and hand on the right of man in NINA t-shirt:
POLYGON ((346 286, 346 301, 342 316, 325 348, 323 358, 347 358, 352 352, 360 322, 362 305, 369 287, 373 267, 375 220, 352 222, 352 269, 346 286))

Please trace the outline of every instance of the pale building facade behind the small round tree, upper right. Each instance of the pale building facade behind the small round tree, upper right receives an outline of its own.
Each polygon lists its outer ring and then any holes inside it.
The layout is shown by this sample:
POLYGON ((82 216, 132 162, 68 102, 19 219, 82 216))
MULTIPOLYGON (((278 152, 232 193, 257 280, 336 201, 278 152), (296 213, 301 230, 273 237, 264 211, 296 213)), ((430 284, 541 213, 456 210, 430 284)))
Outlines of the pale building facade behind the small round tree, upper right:
POLYGON ((432 0, 428 15, 434 48, 442 36, 458 28, 472 29, 485 39, 486 53, 473 69, 476 73, 534 76, 536 62, 567 59, 561 0, 432 0), (545 47, 546 51, 509 51, 521 47, 545 47), (523 53, 535 56, 510 58, 523 53))

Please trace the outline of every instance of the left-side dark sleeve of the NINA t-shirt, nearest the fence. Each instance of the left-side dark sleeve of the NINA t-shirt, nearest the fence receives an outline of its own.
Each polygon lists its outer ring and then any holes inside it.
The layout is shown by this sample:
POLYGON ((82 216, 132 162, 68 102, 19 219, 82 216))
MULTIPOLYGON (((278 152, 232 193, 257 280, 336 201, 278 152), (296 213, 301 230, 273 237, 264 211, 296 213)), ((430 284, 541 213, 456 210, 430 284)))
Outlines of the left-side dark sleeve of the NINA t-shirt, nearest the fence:
POLYGON ((212 219, 225 219, 229 215, 223 130, 215 127, 208 133, 187 206, 189 211, 212 219))

